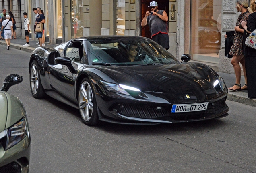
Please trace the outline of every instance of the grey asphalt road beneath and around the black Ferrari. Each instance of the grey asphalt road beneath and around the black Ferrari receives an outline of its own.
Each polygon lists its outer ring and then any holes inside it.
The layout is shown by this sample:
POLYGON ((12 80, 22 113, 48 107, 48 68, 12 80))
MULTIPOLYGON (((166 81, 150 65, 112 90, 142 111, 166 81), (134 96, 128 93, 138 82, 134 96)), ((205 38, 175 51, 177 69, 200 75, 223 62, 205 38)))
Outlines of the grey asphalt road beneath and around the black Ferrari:
POLYGON ((9 93, 25 105, 30 173, 255 173, 256 107, 227 101, 229 116, 168 125, 83 124, 79 111, 34 99, 29 53, 0 46, 0 80, 23 76, 9 93))

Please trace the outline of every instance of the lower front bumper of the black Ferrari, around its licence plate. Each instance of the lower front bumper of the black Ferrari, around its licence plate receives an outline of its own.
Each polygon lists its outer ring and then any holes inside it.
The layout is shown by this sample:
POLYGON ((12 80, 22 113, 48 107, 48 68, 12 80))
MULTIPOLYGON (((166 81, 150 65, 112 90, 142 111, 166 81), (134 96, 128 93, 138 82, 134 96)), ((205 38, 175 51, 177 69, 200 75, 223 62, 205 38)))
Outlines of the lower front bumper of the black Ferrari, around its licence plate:
POLYGON ((99 120, 120 124, 158 124, 202 121, 225 117, 229 107, 224 97, 209 103, 207 110, 188 113, 171 113, 171 106, 162 106, 157 110, 155 105, 140 105, 132 103, 117 103, 109 109, 109 114, 103 114, 98 108, 99 120))

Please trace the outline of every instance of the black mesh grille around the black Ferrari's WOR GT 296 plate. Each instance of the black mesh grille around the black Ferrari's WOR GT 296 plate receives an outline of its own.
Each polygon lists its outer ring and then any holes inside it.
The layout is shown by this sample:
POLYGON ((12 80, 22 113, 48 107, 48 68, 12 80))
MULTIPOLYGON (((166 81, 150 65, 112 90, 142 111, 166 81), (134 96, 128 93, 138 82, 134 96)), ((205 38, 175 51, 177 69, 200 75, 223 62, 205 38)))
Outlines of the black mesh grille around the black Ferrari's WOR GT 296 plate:
POLYGON ((185 113, 171 113, 171 107, 158 107, 155 105, 139 105, 139 104, 118 104, 115 105, 112 111, 134 118, 142 119, 161 119, 166 121, 182 121, 190 119, 201 119, 211 115, 218 114, 227 109, 225 98, 208 104, 206 111, 195 111, 185 113))

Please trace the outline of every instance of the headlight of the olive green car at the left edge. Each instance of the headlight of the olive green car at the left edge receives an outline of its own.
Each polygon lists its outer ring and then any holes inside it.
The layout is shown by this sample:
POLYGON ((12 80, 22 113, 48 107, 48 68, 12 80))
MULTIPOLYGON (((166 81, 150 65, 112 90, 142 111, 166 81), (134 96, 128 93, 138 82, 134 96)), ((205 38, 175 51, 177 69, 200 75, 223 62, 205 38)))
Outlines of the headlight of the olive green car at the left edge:
POLYGON ((23 117, 20 121, 12 125, 8 129, 6 148, 5 150, 10 149, 17 143, 19 143, 22 139, 24 139, 27 135, 27 122, 23 117))

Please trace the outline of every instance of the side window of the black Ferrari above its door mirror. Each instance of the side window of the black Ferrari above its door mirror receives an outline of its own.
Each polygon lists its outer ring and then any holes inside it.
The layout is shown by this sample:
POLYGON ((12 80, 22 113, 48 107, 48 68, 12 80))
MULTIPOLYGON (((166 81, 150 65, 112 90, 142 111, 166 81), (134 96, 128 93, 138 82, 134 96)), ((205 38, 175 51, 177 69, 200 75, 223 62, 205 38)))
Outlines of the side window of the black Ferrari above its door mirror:
POLYGON ((82 42, 72 42, 66 49, 66 57, 70 58, 73 62, 81 62, 83 55, 84 51, 82 42))

